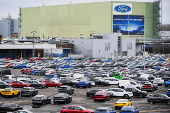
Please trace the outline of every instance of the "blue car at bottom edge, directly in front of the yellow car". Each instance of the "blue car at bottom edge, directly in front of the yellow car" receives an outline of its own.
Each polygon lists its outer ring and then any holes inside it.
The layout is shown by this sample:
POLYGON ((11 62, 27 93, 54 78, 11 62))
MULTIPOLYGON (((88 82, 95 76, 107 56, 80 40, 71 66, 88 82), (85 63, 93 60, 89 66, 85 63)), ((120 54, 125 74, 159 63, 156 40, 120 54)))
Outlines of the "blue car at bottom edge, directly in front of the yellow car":
POLYGON ((139 113, 139 110, 134 106, 123 106, 119 113, 139 113))

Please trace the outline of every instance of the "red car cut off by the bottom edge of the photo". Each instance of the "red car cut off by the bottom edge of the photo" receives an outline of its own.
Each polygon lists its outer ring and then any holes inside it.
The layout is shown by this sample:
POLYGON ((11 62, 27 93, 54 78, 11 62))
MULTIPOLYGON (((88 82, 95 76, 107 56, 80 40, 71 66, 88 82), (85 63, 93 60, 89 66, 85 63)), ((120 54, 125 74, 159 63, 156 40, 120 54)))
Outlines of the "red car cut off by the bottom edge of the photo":
POLYGON ((82 106, 63 106, 60 113, 94 113, 94 111, 82 106))

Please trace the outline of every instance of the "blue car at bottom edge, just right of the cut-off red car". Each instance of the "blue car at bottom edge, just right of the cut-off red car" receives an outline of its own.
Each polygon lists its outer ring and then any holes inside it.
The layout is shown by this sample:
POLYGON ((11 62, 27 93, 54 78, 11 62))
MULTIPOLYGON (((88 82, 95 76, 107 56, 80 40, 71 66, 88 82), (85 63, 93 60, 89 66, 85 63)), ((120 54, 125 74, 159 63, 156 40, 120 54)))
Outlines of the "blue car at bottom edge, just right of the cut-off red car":
POLYGON ((112 110, 110 107, 99 107, 94 113, 116 113, 116 111, 112 110))

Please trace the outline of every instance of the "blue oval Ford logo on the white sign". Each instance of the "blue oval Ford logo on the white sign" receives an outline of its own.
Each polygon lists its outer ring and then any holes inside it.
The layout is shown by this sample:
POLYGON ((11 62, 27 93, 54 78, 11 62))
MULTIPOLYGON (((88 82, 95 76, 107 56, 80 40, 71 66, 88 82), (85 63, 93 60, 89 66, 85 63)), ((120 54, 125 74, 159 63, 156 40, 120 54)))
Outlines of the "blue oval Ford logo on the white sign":
POLYGON ((126 13, 126 12, 131 11, 131 7, 127 5, 118 5, 114 8, 114 10, 117 12, 126 13))

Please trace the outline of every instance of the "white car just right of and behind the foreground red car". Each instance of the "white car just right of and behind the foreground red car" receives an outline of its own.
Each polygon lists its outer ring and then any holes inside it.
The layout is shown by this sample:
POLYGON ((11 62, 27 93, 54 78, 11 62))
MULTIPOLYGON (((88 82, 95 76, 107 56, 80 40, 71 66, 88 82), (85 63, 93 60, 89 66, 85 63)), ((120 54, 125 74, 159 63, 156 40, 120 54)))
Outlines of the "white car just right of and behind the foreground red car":
POLYGON ((108 93, 112 94, 114 97, 124 97, 124 98, 130 98, 133 96, 132 92, 126 92, 124 89, 121 88, 110 88, 108 90, 108 93))

